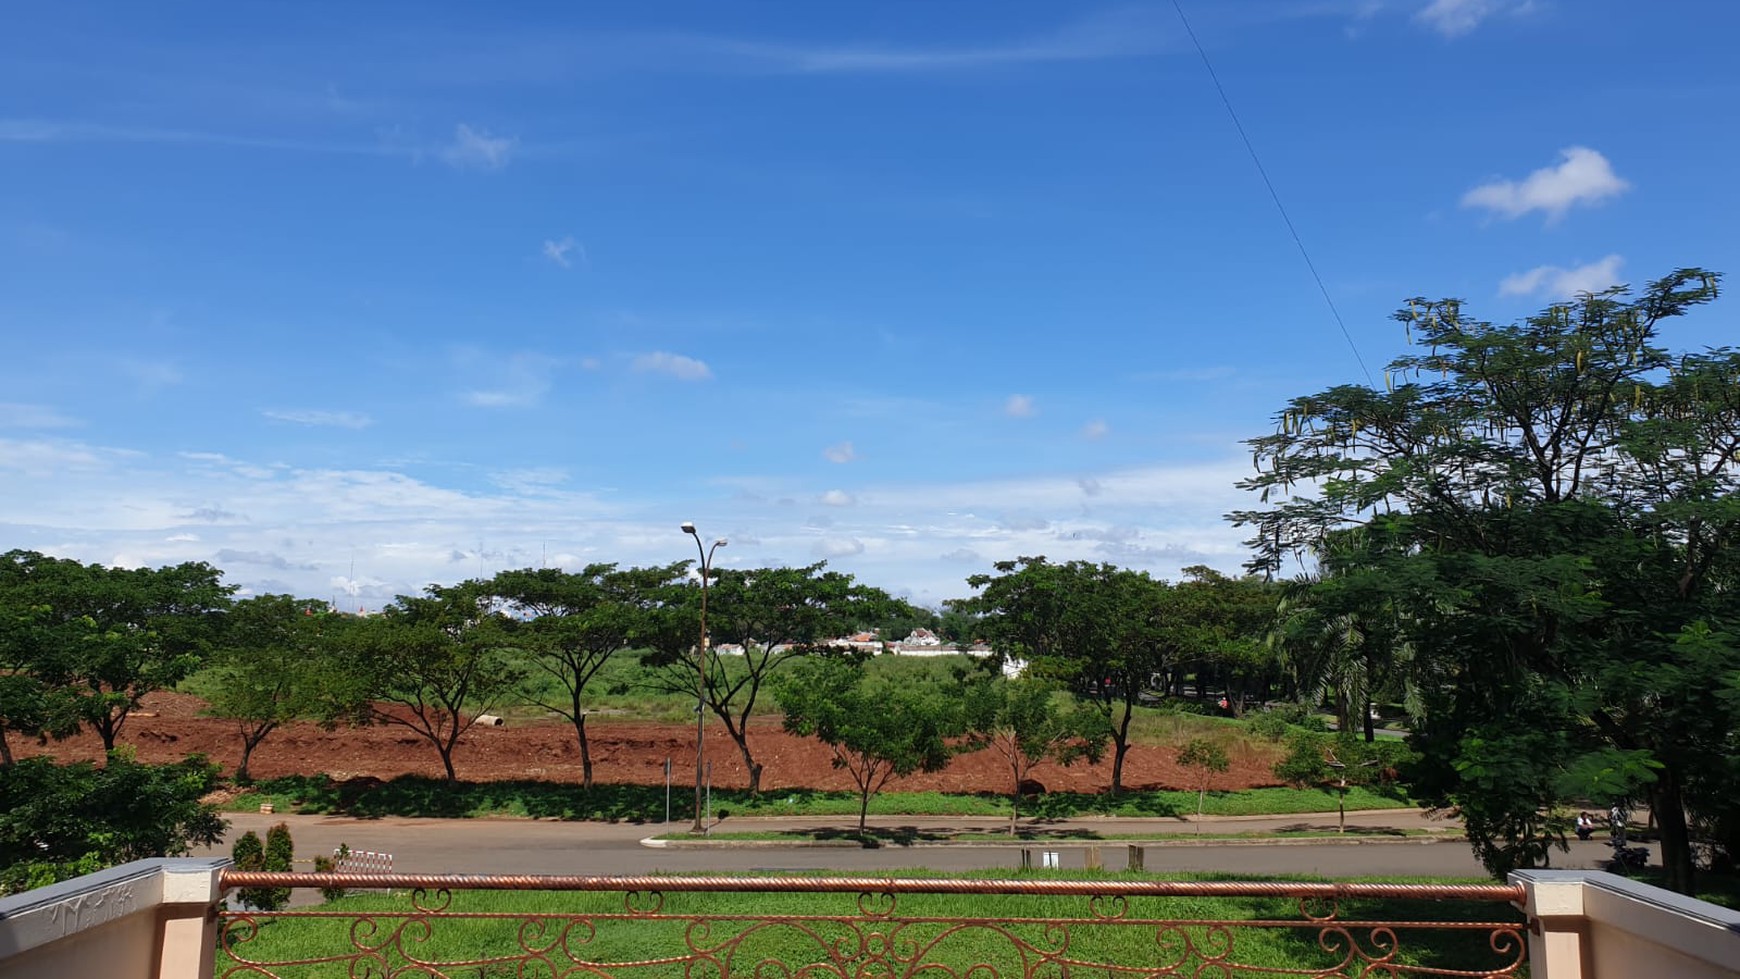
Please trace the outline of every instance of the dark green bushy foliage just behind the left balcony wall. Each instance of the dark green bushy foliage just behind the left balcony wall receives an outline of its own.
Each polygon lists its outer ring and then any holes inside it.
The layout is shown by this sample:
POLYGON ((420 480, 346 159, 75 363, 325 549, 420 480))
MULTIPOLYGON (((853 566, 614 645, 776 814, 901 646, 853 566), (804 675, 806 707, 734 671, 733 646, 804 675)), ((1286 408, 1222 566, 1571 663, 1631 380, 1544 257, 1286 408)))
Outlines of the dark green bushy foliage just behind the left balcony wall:
POLYGON ((224 822, 200 802, 216 786, 218 767, 197 755, 141 765, 117 751, 103 767, 24 758, 0 769, 0 890, 216 843, 224 822))

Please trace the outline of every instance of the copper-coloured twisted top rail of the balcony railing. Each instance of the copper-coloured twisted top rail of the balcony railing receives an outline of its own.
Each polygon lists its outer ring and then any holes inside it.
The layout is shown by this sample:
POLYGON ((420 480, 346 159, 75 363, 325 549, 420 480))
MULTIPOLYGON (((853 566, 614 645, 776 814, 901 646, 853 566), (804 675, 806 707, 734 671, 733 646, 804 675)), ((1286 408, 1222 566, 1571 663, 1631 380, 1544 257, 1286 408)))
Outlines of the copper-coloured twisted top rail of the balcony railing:
POLYGON ((1519 883, 1340 883, 1288 880, 974 880, 926 876, 543 876, 472 873, 282 873, 226 869, 235 887, 353 887, 423 890, 659 890, 806 894, 1041 894, 1084 897, 1411 897, 1422 901, 1522 899, 1519 883))

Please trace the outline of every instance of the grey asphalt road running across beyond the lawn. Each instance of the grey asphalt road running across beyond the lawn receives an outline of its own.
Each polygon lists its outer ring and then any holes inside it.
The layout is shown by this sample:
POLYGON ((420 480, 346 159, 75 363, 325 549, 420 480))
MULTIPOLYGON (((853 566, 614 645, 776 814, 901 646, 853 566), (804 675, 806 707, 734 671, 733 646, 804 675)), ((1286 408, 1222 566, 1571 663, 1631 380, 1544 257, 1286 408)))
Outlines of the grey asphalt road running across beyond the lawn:
MULTIPOLYGON (((1211 826, 1208 831, 1270 829, 1270 822, 1296 824, 1302 819, 1244 819, 1211 826)), ((1333 814, 1329 824, 1333 826, 1333 814)), ((703 873, 703 871, 840 871, 872 873, 900 868, 931 868, 940 871, 1014 869, 1021 849, 1056 850, 1063 868, 1082 868, 1089 843, 1082 842, 1025 842, 1025 843, 941 843, 941 845, 887 845, 861 847, 802 847, 802 845, 733 845, 710 843, 699 847, 647 847, 642 840, 684 826, 663 824, 611 824, 611 822, 553 822, 524 819, 350 819, 332 816, 259 816, 231 814, 231 838, 247 829, 264 835, 273 822, 287 822, 303 857, 332 852, 339 843, 353 850, 393 854, 395 873, 531 873, 531 875, 642 875, 642 873, 703 873)), ((1418 814, 1348 814, 1348 824, 1422 824, 1418 814)), ((792 826, 797 821, 778 821, 792 826)), ((828 822, 828 821, 806 821, 828 822)), ((884 821, 891 826, 912 821, 884 821)), ((962 828, 973 821, 936 819, 924 829, 943 824, 962 828)), ((1157 821, 1155 821, 1157 822, 1157 821)), ((720 829, 767 828, 773 821, 733 819, 720 829)), ((832 822, 837 824, 837 822, 832 822)), ((1152 831, 1148 821, 1098 821, 1101 833, 1152 831)), ((1176 833, 1176 821, 1166 821, 1166 831, 1176 833)), ((1100 843, 1107 869, 1122 869, 1126 842, 1100 843)), ((1359 843, 1147 843, 1148 871, 1218 871, 1253 878, 1272 875, 1434 875, 1482 876, 1479 861, 1465 842, 1359 842, 1359 843)), ((205 852, 228 854, 228 842, 205 852)), ((1556 868, 1596 869, 1610 856, 1599 842, 1571 843, 1569 854, 1556 854, 1556 868)), ((299 862, 298 869, 311 869, 299 862)))

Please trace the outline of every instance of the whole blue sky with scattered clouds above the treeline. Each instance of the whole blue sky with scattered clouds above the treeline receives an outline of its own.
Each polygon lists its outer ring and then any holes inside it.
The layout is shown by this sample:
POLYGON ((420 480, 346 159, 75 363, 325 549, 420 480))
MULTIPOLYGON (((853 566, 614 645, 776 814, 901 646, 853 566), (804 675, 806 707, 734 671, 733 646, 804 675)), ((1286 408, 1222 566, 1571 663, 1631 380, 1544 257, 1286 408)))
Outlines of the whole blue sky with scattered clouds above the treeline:
MULTIPOLYGON (((1737 5, 1185 12, 1375 376, 1408 296, 1740 270, 1737 5)), ((0 336, 0 546, 367 607, 682 520, 1230 572, 1362 379, 1169 2, 14 10, 0 336)))

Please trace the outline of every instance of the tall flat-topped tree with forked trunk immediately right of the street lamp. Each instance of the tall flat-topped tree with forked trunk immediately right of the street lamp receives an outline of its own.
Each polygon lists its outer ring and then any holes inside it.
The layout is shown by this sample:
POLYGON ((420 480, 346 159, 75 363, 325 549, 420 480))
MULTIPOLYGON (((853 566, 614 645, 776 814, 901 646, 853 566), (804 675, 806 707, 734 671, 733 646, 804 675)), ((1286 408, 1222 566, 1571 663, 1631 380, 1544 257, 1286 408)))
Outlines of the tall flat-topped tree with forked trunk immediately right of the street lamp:
POLYGON ((670 692, 698 694, 743 755, 750 795, 760 793, 762 765, 750 751, 748 720, 778 671, 806 656, 847 656, 830 640, 856 623, 875 621, 894 600, 853 576, 807 567, 753 570, 713 569, 706 628, 712 645, 696 657, 699 588, 666 589, 658 626, 647 633, 654 683, 670 692), (727 668, 720 645, 734 647, 727 668), (698 664, 699 663, 699 664, 698 664))

